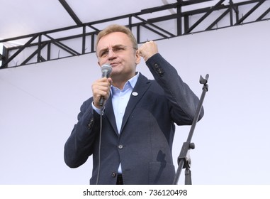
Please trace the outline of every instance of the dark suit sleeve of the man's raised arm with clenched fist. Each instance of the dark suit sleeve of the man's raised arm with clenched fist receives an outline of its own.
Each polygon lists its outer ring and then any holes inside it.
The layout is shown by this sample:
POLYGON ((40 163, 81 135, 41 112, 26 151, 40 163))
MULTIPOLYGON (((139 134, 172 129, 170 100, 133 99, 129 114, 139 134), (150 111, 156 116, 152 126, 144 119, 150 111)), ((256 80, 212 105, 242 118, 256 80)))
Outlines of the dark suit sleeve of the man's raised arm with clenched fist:
MULTIPOLYGON (((159 53, 146 62, 154 79, 163 88, 168 99, 171 119, 177 125, 190 125, 195 117, 199 99, 178 75, 176 69, 159 53)), ((199 116, 203 117, 203 108, 199 116)))

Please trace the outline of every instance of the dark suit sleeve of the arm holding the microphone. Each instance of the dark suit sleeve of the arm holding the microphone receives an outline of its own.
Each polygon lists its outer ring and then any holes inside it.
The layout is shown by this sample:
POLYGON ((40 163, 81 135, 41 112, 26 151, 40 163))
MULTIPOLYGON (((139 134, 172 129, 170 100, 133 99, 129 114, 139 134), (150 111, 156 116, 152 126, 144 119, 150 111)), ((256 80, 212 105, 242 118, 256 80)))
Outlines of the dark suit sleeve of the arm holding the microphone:
POLYGON ((64 145, 64 162, 71 168, 77 168, 86 162, 93 153, 96 137, 99 134, 100 115, 91 106, 92 99, 81 105, 78 122, 64 145))

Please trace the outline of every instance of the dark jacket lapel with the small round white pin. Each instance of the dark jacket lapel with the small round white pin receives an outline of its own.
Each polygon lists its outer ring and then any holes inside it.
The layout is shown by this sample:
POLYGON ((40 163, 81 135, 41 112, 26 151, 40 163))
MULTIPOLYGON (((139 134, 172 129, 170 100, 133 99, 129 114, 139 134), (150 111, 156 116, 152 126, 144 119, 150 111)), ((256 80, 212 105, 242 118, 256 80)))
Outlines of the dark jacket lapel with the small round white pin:
POLYGON ((140 99, 142 99, 142 96, 145 95, 145 92, 148 90, 149 87, 150 87, 150 80, 148 80, 147 77, 145 77, 144 75, 140 74, 137 83, 133 88, 133 92, 130 95, 128 105, 125 108, 125 114, 123 117, 120 133, 122 132, 122 129, 125 127, 125 124, 128 121, 128 117, 130 117, 130 114, 131 112, 133 112, 133 109, 135 108, 136 104, 140 101, 140 99), (135 93, 135 95, 133 95, 133 93, 135 93))

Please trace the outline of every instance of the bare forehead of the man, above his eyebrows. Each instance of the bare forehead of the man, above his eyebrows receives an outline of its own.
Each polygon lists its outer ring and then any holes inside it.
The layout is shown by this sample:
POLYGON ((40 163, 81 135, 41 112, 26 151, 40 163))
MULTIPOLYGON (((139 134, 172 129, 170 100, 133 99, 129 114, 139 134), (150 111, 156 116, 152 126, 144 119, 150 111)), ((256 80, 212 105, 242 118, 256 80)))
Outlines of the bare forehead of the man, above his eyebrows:
POLYGON ((109 33, 103 36, 96 45, 96 50, 110 48, 113 45, 132 45, 130 38, 122 32, 109 33))

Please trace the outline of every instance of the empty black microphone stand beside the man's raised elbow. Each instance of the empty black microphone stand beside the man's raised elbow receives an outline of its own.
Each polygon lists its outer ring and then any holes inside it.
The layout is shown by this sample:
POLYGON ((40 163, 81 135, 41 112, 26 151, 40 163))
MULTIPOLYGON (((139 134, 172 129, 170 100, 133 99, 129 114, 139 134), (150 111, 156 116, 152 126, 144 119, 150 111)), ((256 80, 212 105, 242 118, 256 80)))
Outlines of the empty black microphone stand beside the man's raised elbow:
POLYGON ((189 155, 191 149, 195 149, 195 144, 191 143, 191 138, 193 136, 194 129, 196 127, 196 124, 198 122, 198 117, 201 113, 201 108, 203 107, 203 99, 206 96, 206 92, 208 92, 208 77, 209 75, 206 75, 206 78, 203 78, 200 76, 200 83, 203 85, 203 92, 201 94, 201 99, 198 102, 198 107, 195 112, 195 117, 193 119, 191 129, 189 131, 189 136, 186 142, 183 143, 182 149, 180 151, 180 154, 178 156, 177 162, 178 162, 178 168, 176 171, 176 176, 174 177, 173 185, 176 185, 179 181, 179 177, 181 174, 182 168, 186 168, 185 171, 185 185, 191 185, 191 157, 189 155))

